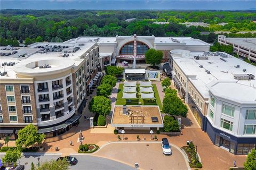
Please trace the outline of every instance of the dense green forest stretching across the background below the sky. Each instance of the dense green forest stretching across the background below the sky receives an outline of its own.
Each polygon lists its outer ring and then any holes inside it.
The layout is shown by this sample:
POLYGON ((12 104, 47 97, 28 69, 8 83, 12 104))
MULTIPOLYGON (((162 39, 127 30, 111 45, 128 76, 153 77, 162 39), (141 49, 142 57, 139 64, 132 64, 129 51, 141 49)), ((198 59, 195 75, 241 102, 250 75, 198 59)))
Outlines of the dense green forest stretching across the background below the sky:
MULTIPOLYGON (((36 42, 62 42, 79 36, 191 36, 213 42, 217 35, 202 31, 255 31, 255 12, 239 11, 85 11, 85 10, 1 10, 0 37, 36 42), (126 19, 136 18, 132 22, 126 19), (168 21, 169 24, 156 24, 168 21), (205 22, 209 27, 186 27, 183 22, 205 22), (218 23, 227 22, 226 25, 218 23), (34 39, 34 40, 33 40, 34 39)), ((245 37, 256 37, 247 33, 245 37)))

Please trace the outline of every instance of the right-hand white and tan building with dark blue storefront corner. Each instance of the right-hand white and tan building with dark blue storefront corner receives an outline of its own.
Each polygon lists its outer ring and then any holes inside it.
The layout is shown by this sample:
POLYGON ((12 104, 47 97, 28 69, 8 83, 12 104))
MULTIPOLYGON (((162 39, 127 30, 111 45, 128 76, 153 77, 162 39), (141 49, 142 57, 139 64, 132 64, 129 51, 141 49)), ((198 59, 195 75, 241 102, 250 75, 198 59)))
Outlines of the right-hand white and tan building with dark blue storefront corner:
POLYGON ((256 146, 256 67, 226 53, 171 51, 172 80, 214 145, 256 146))

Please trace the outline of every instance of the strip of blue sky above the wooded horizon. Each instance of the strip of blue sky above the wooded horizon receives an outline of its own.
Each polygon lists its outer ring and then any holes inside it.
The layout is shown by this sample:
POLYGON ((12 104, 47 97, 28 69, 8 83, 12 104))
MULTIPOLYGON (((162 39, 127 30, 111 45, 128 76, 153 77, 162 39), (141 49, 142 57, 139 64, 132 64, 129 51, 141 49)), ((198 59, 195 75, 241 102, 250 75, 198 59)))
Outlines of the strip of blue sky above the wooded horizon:
POLYGON ((34 10, 256 10, 256 0, 1 0, 0 9, 34 10))

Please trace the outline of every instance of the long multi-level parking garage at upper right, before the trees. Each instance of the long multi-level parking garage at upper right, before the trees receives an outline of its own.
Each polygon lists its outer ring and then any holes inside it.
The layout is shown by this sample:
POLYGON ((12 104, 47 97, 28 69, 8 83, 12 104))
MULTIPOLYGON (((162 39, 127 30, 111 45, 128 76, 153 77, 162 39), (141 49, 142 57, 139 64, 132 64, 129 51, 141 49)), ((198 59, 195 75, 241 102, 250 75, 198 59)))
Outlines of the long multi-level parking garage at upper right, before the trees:
POLYGON ((218 43, 233 46, 234 53, 256 62, 256 38, 227 38, 219 35, 218 43))

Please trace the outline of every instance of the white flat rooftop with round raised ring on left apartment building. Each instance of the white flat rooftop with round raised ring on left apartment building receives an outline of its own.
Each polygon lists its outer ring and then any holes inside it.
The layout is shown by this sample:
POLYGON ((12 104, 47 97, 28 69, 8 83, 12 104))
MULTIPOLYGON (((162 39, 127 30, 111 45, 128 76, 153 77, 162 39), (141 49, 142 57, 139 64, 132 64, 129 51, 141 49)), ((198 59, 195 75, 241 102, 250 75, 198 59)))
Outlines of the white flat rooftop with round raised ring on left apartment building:
MULTIPOLYGON (((84 55, 95 43, 35 43, 29 47, 21 47, 18 49, 17 54, 25 54, 25 57, 18 57, 17 55, 1 56, 0 57, 0 72, 7 72, 6 75, 0 76, 0 79, 14 79, 17 78, 17 73, 21 75, 29 75, 35 77, 38 75, 49 75, 58 73, 71 67, 79 65, 84 59, 84 55), (42 52, 43 48, 38 46, 45 45, 61 45, 68 48, 61 48, 61 52, 42 52), (71 52, 75 47, 80 47, 76 52, 71 52), (68 57, 62 57, 65 53, 64 50, 70 50, 71 53, 68 57), (13 66, 5 65, 3 63, 15 63, 13 66), (49 67, 45 67, 45 66, 49 67), (41 67, 40 67, 41 66, 41 67), (43 68, 42 68, 43 66, 43 68)), ((3 50, 0 50, 2 53, 3 50)))

